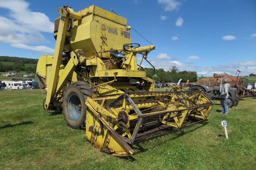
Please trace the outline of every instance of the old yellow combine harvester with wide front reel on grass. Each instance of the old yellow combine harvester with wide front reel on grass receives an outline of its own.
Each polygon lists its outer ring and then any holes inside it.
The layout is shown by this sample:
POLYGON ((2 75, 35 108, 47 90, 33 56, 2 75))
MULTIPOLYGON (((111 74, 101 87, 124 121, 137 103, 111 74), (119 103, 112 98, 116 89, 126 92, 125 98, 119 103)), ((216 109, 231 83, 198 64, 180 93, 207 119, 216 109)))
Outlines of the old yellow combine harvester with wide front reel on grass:
POLYGON ((207 120, 213 103, 201 91, 154 91, 136 56, 148 62, 155 46, 131 43, 125 18, 95 5, 78 12, 63 6, 58 13, 54 55, 37 64, 47 92, 43 107, 61 106, 67 124, 85 129, 94 147, 128 156, 133 144, 207 120))

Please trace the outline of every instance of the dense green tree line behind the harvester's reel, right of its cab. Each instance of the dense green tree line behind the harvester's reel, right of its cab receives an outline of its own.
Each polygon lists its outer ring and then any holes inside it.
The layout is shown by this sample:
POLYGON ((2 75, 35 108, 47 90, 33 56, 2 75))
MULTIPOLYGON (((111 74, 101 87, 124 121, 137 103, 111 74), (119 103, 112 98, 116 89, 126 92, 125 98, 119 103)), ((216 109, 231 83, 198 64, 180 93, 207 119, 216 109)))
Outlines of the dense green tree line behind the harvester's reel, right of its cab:
POLYGON ((156 81, 165 81, 165 82, 178 82, 179 79, 182 79, 181 82, 196 82, 197 81, 197 73, 196 71, 178 71, 176 66, 172 66, 169 70, 165 71, 164 69, 156 69, 154 75, 153 68, 145 68, 147 73, 147 77, 156 81))

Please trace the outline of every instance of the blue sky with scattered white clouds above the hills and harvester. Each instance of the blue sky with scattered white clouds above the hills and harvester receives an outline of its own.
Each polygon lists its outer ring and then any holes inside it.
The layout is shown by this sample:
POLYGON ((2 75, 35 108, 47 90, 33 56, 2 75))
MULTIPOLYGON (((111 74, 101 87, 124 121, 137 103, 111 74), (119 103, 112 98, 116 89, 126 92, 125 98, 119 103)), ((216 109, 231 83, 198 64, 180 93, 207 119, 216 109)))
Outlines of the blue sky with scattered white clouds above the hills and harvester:
MULTIPOLYGON (((198 76, 256 73, 255 0, 0 0, 0 55, 53 53, 58 7, 79 11, 92 4, 114 9, 154 44, 148 59, 156 68, 175 65, 198 76)), ((149 45, 133 30, 131 35, 132 42, 149 45)))

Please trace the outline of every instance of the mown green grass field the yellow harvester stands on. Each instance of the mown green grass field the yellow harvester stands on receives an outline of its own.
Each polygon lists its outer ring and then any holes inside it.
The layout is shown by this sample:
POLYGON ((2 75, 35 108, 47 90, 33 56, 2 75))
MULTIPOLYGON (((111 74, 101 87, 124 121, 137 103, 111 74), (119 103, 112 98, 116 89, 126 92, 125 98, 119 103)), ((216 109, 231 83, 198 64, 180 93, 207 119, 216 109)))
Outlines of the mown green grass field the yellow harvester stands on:
POLYGON ((255 99, 240 101, 229 115, 219 114, 215 101, 207 124, 134 146, 136 155, 120 158, 92 147, 82 130, 66 126, 60 111, 44 111, 44 97, 43 90, 0 91, 1 170, 255 170, 255 99))

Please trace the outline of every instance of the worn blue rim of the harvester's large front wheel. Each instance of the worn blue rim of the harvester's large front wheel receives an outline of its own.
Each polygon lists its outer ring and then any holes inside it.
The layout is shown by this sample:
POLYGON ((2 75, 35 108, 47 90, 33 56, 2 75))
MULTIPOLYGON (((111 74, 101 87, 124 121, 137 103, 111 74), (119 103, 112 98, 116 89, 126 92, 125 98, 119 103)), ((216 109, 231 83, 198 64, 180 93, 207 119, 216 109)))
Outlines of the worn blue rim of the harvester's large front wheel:
POLYGON ((71 119, 78 120, 81 116, 81 100, 76 94, 71 94, 68 99, 68 114, 71 119))

